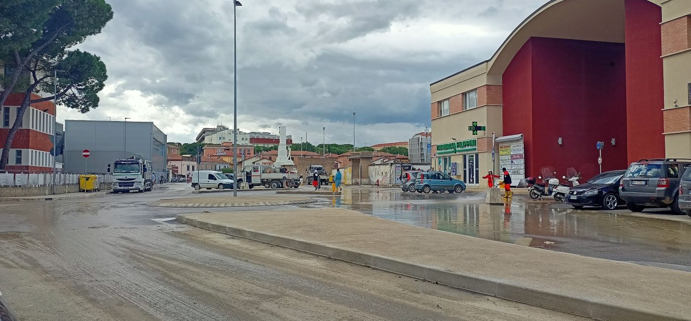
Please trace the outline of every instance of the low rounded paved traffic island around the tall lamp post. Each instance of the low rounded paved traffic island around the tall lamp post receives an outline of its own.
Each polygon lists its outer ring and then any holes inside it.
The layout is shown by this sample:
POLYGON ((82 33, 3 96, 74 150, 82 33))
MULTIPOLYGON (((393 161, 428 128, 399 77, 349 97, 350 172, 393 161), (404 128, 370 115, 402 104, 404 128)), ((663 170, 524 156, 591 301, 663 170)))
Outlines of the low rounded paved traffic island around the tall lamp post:
POLYGON ((178 199, 160 199, 152 206, 167 208, 234 208, 244 206, 297 205, 314 203, 316 200, 301 196, 238 196, 238 197, 183 197, 178 199))

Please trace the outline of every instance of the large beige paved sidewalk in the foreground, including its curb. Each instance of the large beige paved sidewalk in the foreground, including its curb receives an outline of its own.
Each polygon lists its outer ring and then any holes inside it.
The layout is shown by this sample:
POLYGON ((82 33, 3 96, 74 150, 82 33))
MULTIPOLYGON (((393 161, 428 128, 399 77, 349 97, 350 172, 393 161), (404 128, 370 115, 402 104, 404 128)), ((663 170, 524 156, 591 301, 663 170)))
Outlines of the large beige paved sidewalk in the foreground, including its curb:
POLYGON ((178 221, 599 320, 691 320, 691 273, 408 226, 343 209, 178 221))

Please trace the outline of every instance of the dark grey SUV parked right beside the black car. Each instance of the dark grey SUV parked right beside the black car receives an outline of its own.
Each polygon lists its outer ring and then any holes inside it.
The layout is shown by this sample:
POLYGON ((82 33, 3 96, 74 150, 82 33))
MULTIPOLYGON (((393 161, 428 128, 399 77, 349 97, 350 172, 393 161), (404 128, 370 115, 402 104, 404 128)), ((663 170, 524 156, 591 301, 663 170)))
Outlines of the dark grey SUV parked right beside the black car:
POLYGON ((632 212, 645 208, 671 208, 674 214, 684 214, 679 209, 679 181, 691 159, 660 158, 643 159, 632 163, 619 184, 619 195, 632 212))

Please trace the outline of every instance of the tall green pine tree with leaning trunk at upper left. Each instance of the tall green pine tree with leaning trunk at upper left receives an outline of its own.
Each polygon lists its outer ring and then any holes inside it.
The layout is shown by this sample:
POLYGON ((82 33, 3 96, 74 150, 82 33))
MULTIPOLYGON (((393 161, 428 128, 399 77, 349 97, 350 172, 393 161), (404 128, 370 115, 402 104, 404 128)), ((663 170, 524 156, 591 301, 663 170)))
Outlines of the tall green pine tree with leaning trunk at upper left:
POLYGON ((98 107, 97 93, 108 77, 105 64, 95 55, 68 49, 100 33, 112 18, 113 10, 104 0, 1 1, 0 59, 13 64, 11 75, 3 79, 6 90, 0 95, 0 106, 13 91, 21 89, 26 95, 3 146, 0 169, 8 163, 10 146, 19 130, 17 120, 23 118, 30 104, 55 98, 82 113, 98 107), (28 22, 22 19, 29 16, 28 22), (57 95, 32 100, 31 93, 53 92, 56 70, 63 71, 57 95), (21 75, 26 84, 18 83, 21 75))

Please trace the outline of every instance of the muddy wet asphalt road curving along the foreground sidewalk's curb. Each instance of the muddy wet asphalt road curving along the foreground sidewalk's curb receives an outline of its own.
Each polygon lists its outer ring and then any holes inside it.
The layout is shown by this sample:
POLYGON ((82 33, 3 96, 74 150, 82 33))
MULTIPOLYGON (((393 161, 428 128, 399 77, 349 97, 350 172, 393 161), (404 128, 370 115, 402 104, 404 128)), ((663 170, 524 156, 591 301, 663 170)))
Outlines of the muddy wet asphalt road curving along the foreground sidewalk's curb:
POLYGON ((0 203, 4 299, 21 320, 581 320, 168 220, 228 209, 146 205, 189 195, 0 203))

